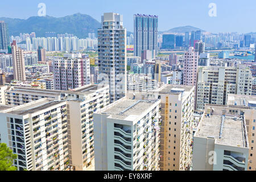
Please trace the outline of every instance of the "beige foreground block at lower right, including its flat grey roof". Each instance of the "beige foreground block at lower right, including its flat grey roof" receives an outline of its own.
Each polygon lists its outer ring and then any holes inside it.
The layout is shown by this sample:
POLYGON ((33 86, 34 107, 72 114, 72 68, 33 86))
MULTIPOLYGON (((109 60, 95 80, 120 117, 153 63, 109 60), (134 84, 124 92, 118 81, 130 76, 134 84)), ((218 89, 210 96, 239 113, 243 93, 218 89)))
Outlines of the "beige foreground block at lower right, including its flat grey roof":
POLYGON ((193 171, 247 171, 249 142, 241 109, 205 105, 193 137, 193 171))

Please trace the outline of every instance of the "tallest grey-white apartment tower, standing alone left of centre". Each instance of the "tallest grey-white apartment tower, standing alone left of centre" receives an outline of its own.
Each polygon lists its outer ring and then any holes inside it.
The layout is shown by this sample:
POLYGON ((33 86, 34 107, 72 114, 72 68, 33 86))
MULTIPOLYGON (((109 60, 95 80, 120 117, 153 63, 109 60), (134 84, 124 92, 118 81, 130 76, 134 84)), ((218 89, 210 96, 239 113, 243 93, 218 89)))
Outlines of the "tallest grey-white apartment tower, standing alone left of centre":
POLYGON ((122 98, 127 90, 126 29, 123 16, 104 13, 98 30, 99 82, 109 84, 110 102, 122 98))

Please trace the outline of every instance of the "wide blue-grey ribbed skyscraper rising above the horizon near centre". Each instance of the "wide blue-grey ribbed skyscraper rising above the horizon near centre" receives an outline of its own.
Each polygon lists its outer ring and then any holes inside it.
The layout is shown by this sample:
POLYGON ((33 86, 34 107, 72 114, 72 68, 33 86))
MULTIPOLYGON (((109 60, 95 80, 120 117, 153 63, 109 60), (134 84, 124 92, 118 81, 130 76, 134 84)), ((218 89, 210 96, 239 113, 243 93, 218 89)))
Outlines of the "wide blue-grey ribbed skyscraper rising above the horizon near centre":
POLYGON ((134 15, 134 56, 143 50, 158 50, 158 16, 134 15))

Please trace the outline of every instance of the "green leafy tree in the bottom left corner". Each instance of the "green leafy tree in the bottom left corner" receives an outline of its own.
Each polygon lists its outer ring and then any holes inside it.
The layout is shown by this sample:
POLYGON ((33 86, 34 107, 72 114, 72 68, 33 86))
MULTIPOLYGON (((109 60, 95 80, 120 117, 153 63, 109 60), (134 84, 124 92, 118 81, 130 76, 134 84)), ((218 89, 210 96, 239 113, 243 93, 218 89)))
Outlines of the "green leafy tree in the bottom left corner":
POLYGON ((13 161, 16 158, 17 155, 13 154, 6 143, 0 143, 0 171, 16 171, 17 168, 13 166, 13 161))

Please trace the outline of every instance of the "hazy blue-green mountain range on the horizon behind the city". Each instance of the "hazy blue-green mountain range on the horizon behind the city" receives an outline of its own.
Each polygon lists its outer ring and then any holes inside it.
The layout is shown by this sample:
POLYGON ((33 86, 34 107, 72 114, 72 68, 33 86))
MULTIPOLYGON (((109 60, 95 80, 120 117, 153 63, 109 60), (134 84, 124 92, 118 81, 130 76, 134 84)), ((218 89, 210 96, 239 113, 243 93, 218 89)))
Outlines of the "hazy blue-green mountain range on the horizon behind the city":
MULTIPOLYGON (((32 16, 28 19, 2 17, 0 20, 4 20, 8 24, 10 36, 19 36, 20 32, 35 32, 37 37, 44 37, 46 32, 56 32, 57 34, 68 33, 73 34, 78 38, 86 38, 89 32, 94 32, 97 35, 97 30, 101 27, 101 23, 92 18, 92 16, 80 13, 61 18, 52 16, 32 16)), ((172 28, 167 31, 159 31, 159 34, 179 34, 197 30, 201 29, 192 26, 184 26, 172 28)), ((201 32, 205 31, 201 30, 201 32)), ((132 34, 132 32, 127 31, 127 36, 130 34, 132 34)))

